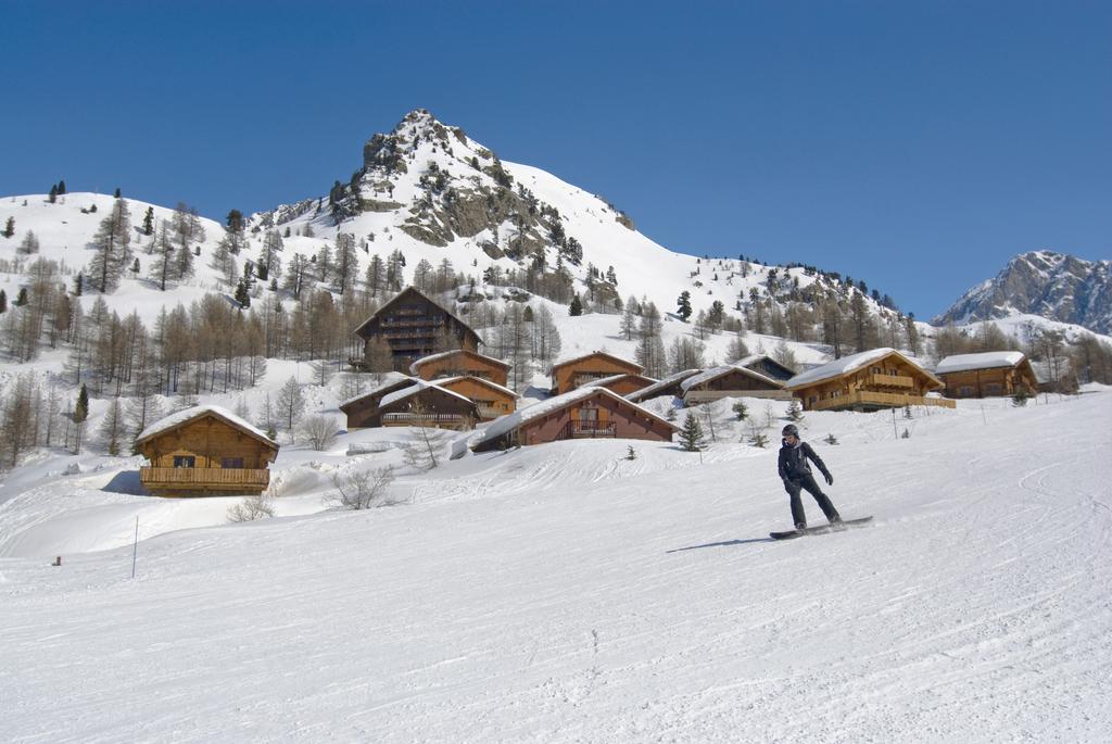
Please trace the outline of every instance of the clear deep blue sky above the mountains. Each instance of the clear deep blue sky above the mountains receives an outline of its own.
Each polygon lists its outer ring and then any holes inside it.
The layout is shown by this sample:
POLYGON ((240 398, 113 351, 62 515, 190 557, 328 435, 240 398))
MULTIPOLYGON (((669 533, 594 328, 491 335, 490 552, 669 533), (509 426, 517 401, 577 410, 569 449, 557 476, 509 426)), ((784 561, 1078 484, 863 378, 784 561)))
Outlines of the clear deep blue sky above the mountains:
POLYGON ((0 194, 221 218, 427 108, 674 250, 927 319, 1024 250, 1112 256, 1112 3, 0 0, 0 194), (399 7, 399 6, 407 7, 399 7))

